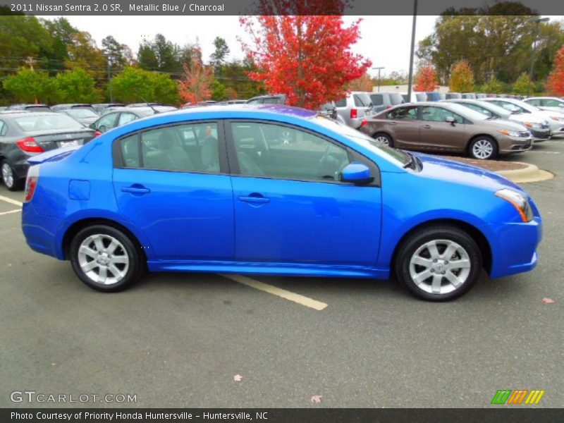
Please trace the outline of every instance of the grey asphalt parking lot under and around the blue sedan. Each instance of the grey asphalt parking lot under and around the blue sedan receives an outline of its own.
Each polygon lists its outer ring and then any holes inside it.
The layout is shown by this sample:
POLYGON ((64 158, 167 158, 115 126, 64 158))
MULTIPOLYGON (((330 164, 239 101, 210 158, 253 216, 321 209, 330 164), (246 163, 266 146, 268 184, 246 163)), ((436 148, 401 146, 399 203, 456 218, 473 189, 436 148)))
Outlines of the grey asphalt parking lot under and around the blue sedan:
POLYGON ((136 396, 84 404, 100 407, 486 407, 541 389, 537 407, 560 407, 564 137, 503 160, 556 174, 524 185, 544 218, 539 266, 447 303, 393 281, 216 274, 98 293, 27 247, 22 192, 0 186, 0 405, 36 391, 136 396))

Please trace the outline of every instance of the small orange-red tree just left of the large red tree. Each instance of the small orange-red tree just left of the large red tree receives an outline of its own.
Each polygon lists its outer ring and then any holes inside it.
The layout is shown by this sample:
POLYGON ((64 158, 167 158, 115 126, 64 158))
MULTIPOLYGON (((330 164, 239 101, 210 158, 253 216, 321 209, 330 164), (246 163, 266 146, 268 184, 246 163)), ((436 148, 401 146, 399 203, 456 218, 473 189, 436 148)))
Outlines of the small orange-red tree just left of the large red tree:
POLYGON ((197 104, 212 97, 213 70, 202 64, 199 49, 194 49, 190 57, 190 66, 183 63, 183 74, 178 81, 180 98, 190 104, 197 104))

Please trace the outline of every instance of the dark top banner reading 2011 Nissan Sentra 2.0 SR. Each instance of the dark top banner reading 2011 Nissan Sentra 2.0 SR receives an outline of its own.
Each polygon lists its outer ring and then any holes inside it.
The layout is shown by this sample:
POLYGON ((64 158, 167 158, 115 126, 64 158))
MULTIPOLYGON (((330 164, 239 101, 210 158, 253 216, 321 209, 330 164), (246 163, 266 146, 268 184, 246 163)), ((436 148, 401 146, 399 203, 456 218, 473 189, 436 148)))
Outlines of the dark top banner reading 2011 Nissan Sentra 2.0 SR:
MULTIPOLYGON (((0 14, 51 16, 412 15, 415 0, 0 0, 0 14)), ((417 14, 563 15, 556 0, 418 0, 417 14)))

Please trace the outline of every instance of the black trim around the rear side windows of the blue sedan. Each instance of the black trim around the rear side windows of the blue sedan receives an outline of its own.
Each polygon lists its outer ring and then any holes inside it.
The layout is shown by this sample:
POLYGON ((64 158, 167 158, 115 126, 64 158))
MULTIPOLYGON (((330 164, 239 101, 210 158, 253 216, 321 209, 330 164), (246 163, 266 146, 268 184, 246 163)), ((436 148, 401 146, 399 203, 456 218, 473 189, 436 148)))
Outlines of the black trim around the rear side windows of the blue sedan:
POLYGON ((155 125, 149 126, 147 128, 142 128, 139 130, 134 130, 130 133, 123 134, 112 141, 111 145, 111 156, 112 156, 112 163, 114 168, 118 169, 129 169, 132 171, 160 171, 160 172, 176 172, 176 173, 199 173, 202 175, 230 175, 230 168, 228 162, 228 154, 227 154, 227 147, 226 147, 226 130, 225 130, 225 122, 224 119, 202 119, 198 121, 181 121, 181 122, 173 122, 173 123, 165 123, 163 125, 155 125), (217 141, 219 147, 219 172, 210 173, 210 172, 199 172, 199 171, 182 171, 182 170, 173 170, 173 169, 152 169, 152 168, 144 168, 143 167, 143 157, 142 157, 142 140, 141 135, 142 133, 149 131, 149 130, 157 130, 160 128, 171 128, 173 126, 181 126, 181 125, 197 125, 199 123, 216 123, 217 125, 217 141), (139 154, 139 167, 127 167, 125 166, 125 161, 123 159, 123 153, 121 151, 120 143, 121 140, 130 137, 132 135, 137 135, 137 154, 139 154))

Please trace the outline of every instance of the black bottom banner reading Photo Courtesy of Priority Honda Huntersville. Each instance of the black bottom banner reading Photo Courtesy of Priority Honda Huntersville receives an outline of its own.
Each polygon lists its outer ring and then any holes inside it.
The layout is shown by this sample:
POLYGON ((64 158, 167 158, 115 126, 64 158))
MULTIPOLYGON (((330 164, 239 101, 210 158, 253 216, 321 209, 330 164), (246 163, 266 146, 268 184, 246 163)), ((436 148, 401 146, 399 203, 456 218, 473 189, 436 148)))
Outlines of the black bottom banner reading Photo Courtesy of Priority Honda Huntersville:
POLYGON ((1 409, 0 422, 28 423, 545 423, 564 422, 564 409, 548 408, 388 408, 388 409, 1 409))

